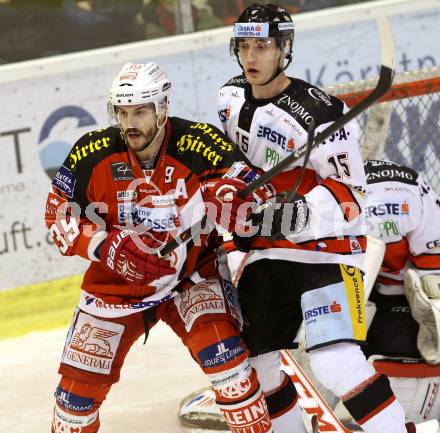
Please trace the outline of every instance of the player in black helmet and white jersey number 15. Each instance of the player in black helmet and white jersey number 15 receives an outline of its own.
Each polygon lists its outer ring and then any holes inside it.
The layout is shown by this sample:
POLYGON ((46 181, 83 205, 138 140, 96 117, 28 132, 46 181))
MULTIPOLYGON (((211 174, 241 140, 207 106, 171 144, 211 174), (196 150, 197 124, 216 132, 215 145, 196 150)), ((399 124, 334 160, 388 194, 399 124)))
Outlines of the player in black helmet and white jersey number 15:
MULTIPOLYGON (((231 51, 243 74, 219 91, 223 128, 254 167, 266 171, 346 110, 343 102, 286 76, 294 28, 281 7, 252 5, 234 26, 231 51)), ((271 180, 278 193, 293 188, 303 159, 271 180)), ((305 432, 279 349, 294 348, 304 318, 306 348, 318 380, 344 401, 367 433, 404 433, 405 414, 388 378, 365 358, 362 266, 365 174, 355 123, 312 150, 293 200, 290 234, 281 233, 285 204, 272 230, 235 235, 249 256, 238 284, 243 337, 277 433, 305 432)), ((292 205, 291 205, 292 206, 292 205)), ((260 216, 261 217, 261 216, 260 216)), ((260 218, 261 219, 261 218, 260 218)))

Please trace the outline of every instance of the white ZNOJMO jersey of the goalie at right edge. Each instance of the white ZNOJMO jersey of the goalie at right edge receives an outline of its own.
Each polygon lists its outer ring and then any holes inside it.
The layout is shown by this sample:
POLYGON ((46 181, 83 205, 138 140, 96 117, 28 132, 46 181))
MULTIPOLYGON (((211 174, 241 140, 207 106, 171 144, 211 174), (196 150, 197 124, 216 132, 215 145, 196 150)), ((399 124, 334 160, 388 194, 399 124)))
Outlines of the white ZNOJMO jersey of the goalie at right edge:
POLYGON ((386 244, 377 278, 382 294, 403 294, 403 275, 440 273, 440 199, 414 170, 365 162, 368 233, 386 244))

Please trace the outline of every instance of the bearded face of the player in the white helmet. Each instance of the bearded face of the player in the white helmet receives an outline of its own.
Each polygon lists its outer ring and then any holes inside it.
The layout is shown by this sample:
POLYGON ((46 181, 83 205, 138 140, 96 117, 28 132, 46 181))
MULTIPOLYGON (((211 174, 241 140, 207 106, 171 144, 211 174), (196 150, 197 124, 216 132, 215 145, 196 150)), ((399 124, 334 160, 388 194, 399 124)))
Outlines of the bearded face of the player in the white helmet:
POLYGON ((132 150, 139 153, 151 145, 158 131, 154 104, 119 105, 116 107, 116 115, 132 150))

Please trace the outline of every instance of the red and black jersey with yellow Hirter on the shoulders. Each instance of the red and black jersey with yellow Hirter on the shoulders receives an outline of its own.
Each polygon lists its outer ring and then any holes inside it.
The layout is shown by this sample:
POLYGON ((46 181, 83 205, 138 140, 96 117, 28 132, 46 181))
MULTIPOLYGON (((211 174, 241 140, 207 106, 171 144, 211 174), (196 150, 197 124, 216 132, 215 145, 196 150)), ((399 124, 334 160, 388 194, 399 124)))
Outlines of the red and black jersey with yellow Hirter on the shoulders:
POLYGON ((176 248, 176 274, 148 285, 128 284, 111 273, 94 250, 106 232, 130 225, 153 230, 164 243, 179 235, 205 215, 204 190, 221 179, 236 158, 235 146, 220 130, 177 117, 167 121, 152 170, 143 169, 118 128, 81 137, 53 179, 45 215, 62 254, 91 260, 82 283, 81 309, 101 317, 128 315, 169 299, 175 288, 218 277, 216 232, 176 248))

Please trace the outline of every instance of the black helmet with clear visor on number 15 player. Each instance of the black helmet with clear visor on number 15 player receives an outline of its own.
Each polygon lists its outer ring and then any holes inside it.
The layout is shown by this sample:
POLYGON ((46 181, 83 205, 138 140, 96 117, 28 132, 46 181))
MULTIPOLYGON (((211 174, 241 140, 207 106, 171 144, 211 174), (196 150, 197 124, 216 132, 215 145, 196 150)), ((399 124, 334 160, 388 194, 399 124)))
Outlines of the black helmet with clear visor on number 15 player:
POLYGON ((282 54, 287 59, 285 70, 292 61, 292 48, 295 29, 290 14, 281 6, 269 3, 252 4, 238 17, 234 24, 234 37, 231 38, 230 51, 241 66, 238 57, 241 38, 275 38, 282 54), (257 25, 253 25, 256 23, 257 25))

